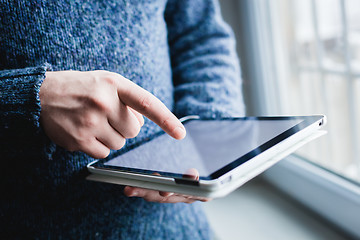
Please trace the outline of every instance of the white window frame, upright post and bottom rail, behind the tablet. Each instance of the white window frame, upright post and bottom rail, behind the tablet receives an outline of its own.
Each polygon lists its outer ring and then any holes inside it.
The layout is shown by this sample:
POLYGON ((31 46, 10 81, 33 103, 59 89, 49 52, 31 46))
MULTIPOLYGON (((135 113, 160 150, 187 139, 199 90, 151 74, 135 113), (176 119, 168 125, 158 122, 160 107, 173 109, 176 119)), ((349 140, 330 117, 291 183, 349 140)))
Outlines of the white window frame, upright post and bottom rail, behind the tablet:
MULTIPOLYGON (((241 60, 245 91, 250 91, 251 115, 281 113, 278 91, 289 68, 278 38, 274 8, 269 0, 239 1, 241 60), (275 21, 274 21, 275 19, 275 21), (276 53, 276 54, 275 54, 276 53), (244 64, 244 62, 246 62, 244 64)), ((263 175, 269 182, 351 237, 360 239, 360 186, 291 155, 263 175)))

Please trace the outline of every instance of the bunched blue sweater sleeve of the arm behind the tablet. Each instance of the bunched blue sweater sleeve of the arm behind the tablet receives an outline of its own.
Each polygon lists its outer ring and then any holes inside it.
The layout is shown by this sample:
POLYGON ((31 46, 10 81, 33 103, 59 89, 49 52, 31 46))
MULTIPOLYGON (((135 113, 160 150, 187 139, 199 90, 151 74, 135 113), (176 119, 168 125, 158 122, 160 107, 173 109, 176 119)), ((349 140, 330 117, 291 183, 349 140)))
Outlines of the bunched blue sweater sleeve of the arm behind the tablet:
POLYGON ((168 26, 178 117, 244 115, 235 40, 217 0, 170 0, 168 26))

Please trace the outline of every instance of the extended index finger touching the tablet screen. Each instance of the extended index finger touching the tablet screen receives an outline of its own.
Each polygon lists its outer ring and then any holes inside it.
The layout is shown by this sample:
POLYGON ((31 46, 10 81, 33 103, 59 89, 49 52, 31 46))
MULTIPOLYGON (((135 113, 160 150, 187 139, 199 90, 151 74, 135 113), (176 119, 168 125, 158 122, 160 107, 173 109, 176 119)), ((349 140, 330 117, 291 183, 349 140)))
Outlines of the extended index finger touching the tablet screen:
POLYGON ((150 92, 120 76, 118 95, 127 106, 148 117, 175 139, 183 139, 186 131, 179 119, 150 92))

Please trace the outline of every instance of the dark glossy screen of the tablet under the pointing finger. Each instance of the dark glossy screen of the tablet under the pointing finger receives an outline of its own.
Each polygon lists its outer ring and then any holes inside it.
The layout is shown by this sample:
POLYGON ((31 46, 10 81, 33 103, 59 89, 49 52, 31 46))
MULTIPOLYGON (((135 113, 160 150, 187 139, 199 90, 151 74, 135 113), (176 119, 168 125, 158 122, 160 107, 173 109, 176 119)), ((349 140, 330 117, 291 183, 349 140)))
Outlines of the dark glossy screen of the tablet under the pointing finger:
POLYGON ((200 179, 214 179, 250 160, 321 117, 246 117, 189 120, 187 135, 175 140, 159 133, 95 167, 181 177, 196 169, 200 179))

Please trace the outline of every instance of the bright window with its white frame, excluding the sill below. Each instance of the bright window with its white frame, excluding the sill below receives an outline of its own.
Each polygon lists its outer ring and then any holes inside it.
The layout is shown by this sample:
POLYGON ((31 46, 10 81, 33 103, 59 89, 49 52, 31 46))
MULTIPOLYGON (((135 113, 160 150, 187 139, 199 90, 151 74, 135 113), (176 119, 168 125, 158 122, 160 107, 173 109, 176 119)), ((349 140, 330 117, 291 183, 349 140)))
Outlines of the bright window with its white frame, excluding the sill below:
POLYGON ((244 0, 238 9, 249 113, 328 117, 326 137, 265 176, 359 238, 360 1, 244 0))

